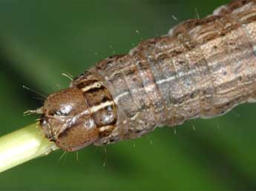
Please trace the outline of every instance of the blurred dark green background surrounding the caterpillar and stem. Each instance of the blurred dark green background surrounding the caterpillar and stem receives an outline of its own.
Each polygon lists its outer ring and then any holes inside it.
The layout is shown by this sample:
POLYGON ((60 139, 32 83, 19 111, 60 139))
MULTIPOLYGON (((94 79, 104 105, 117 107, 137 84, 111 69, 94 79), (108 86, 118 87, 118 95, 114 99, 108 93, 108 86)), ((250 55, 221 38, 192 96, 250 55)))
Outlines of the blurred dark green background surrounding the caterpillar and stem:
MULTIPOLYGON (((0 135, 38 117, 22 115, 43 103, 23 84, 45 95, 68 87, 61 73, 77 76, 195 18, 195 10, 203 17, 227 2, 0 0, 0 135)), ((243 104, 219 118, 108 145, 106 153, 87 147, 78 160, 56 151, 1 173, 0 189, 255 190, 255 113, 255 104, 243 104)))

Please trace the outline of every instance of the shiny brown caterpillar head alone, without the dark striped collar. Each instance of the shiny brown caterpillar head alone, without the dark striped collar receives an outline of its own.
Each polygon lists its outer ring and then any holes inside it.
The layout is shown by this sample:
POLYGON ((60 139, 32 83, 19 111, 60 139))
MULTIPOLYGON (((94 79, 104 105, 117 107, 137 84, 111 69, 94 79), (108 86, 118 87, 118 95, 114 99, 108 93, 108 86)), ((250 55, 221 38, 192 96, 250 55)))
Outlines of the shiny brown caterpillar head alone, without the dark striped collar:
POLYGON ((40 124, 45 136, 66 151, 92 144, 99 131, 82 91, 70 87, 47 97, 40 124))

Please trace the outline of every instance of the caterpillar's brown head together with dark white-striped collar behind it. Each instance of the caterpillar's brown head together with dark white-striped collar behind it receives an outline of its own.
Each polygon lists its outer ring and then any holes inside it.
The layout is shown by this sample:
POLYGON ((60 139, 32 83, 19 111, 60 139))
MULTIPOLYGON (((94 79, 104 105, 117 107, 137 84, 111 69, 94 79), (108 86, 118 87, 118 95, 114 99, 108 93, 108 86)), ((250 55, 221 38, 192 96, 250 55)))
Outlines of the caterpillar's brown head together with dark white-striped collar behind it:
POLYGON ((79 150, 107 136, 116 124, 114 102, 103 84, 85 73, 47 97, 42 107, 42 130, 67 151, 79 150))

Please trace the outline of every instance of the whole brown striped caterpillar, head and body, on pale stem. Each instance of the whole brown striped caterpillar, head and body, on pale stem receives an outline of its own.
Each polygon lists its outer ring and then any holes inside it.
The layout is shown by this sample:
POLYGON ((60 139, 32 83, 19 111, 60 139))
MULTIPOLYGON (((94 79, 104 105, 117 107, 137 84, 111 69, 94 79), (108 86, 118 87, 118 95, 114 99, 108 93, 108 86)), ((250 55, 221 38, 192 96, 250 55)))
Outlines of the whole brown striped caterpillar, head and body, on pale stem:
POLYGON ((99 61, 47 97, 40 124, 74 151, 223 115, 255 98, 256 1, 240 0, 99 61))

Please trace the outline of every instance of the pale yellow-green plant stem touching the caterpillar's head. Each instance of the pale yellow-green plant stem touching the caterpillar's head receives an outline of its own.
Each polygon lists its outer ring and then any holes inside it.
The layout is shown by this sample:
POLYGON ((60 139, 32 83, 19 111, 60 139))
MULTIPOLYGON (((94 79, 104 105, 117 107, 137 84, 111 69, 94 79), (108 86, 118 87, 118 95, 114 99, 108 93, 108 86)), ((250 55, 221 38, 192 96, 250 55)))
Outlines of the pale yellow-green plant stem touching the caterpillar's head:
POLYGON ((38 123, 0 137, 0 172, 58 149, 42 135, 38 123))

